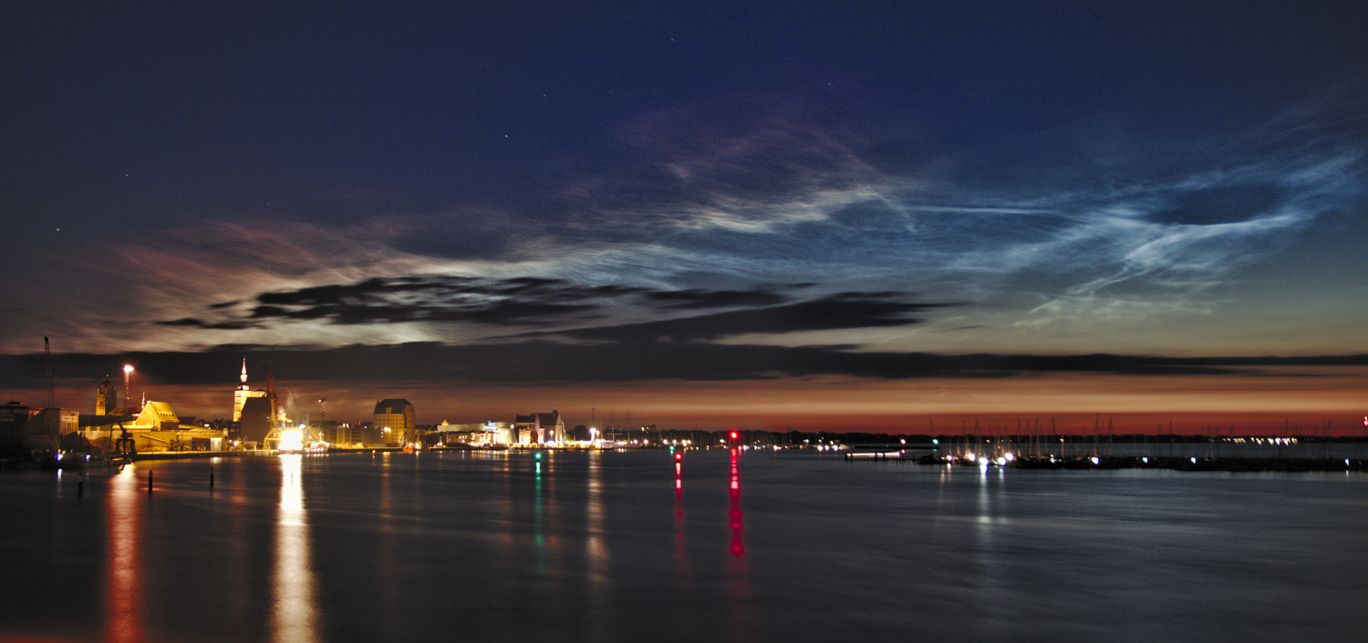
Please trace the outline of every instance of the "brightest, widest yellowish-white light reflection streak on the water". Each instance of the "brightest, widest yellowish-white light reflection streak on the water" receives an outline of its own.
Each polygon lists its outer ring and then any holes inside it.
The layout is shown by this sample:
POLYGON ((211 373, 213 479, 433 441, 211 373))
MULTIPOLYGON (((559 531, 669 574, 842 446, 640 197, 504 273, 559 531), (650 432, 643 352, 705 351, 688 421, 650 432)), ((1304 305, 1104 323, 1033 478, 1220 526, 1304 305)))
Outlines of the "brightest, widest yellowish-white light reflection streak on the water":
POLYGON ((271 631, 279 642, 313 642, 317 614, 304 508, 302 457, 280 456, 280 506, 275 527, 275 603, 271 631))

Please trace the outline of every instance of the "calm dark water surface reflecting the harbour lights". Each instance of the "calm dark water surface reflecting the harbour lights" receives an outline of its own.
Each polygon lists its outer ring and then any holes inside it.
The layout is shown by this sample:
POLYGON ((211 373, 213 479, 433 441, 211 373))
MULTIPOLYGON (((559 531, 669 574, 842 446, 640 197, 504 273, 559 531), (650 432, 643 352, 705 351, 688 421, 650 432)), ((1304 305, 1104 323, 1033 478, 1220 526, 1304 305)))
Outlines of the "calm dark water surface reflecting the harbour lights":
POLYGON ((5 474, 0 639, 1357 642, 1365 482, 765 451, 5 474))

